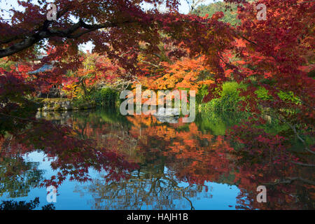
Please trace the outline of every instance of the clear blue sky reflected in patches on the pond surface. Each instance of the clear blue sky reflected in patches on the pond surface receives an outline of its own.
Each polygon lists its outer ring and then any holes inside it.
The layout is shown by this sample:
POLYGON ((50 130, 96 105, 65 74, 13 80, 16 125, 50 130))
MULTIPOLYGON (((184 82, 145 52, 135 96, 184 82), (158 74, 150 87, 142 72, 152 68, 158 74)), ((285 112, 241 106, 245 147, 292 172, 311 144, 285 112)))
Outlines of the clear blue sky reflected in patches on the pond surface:
MULTIPOLYGON (((46 179, 57 173, 57 171, 52 171, 50 167, 51 160, 49 161, 48 158, 45 158, 44 153, 33 152, 25 155, 24 158, 27 162, 40 162, 38 169, 45 170, 44 178, 46 179)), ((165 172, 167 172, 167 169, 165 169, 165 172)), ((89 174, 92 179, 100 179, 100 174, 93 169, 90 169, 89 174)), ((93 198, 92 193, 87 191, 87 187, 90 184, 90 181, 79 183, 78 181, 69 181, 66 179, 58 188, 57 202, 54 203, 55 208, 92 209, 95 198, 93 198)), ((195 209, 235 209, 236 197, 239 193, 239 189, 236 186, 211 182, 204 184, 208 187, 208 192, 202 190, 202 193, 197 193, 196 197, 189 197, 189 194, 186 195, 193 203, 195 209)), ((180 182, 178 186, 187 187, 188 183, 180 182)), ((36 209, 41 209, 43 205, 48 204, 46 202, 46 195, 45 188, 33 188, 27 197, 9 198, 8 194, 3 194, 0 200, 29 202, 30 200, 34 200, 35 197, 39 197, 40 204, 36 209)), ((172 200, 172 203, 176 206, 174 209, 190 209, 190 203, 183 197, 172 200)), ((144 203, 141 209, 152 209, 152 206, 146 206, 144 203)))

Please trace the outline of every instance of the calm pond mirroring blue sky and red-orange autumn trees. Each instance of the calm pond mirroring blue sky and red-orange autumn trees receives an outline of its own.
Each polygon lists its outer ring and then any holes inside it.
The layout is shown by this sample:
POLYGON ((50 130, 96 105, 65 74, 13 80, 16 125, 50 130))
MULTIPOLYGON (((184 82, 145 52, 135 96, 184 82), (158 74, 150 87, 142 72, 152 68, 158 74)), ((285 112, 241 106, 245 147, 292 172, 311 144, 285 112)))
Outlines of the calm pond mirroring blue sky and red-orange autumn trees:
POLYGON ((194 123, 121 116, 106 109, 37 117, 69 125, 80 139, 94 139, 112 153, 106 154, 111 168, 98 167, 99 158, 84 151, 9 153, 0 160, 0 201, 34 202, 34 209, 41 209, 50 202, 43 183, 57 179, 55 209, 314 208, 314 188, 295 183, 267 186, 268 201, 257 202, 256 189, 263 182, 256 177, 280 179, 286 174, 237 162, 232 151, 238 146, 224 136, 239 122, 232 114, 197 113, 194 123))

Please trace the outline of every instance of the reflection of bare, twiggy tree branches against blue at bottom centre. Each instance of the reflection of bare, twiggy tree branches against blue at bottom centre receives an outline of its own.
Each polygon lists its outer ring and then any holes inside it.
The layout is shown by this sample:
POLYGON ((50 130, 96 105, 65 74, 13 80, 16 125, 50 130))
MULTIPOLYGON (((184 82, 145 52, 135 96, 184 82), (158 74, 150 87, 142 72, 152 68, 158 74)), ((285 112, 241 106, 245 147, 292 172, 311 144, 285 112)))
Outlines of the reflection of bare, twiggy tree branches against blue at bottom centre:
POLYGON ((128 180, 94 179, 77 191, 92 194, 92 209, 195 209, 191 199, 212 197, 202 185, 179 186, 174 174, 164 169, 140 169, 128 180))

